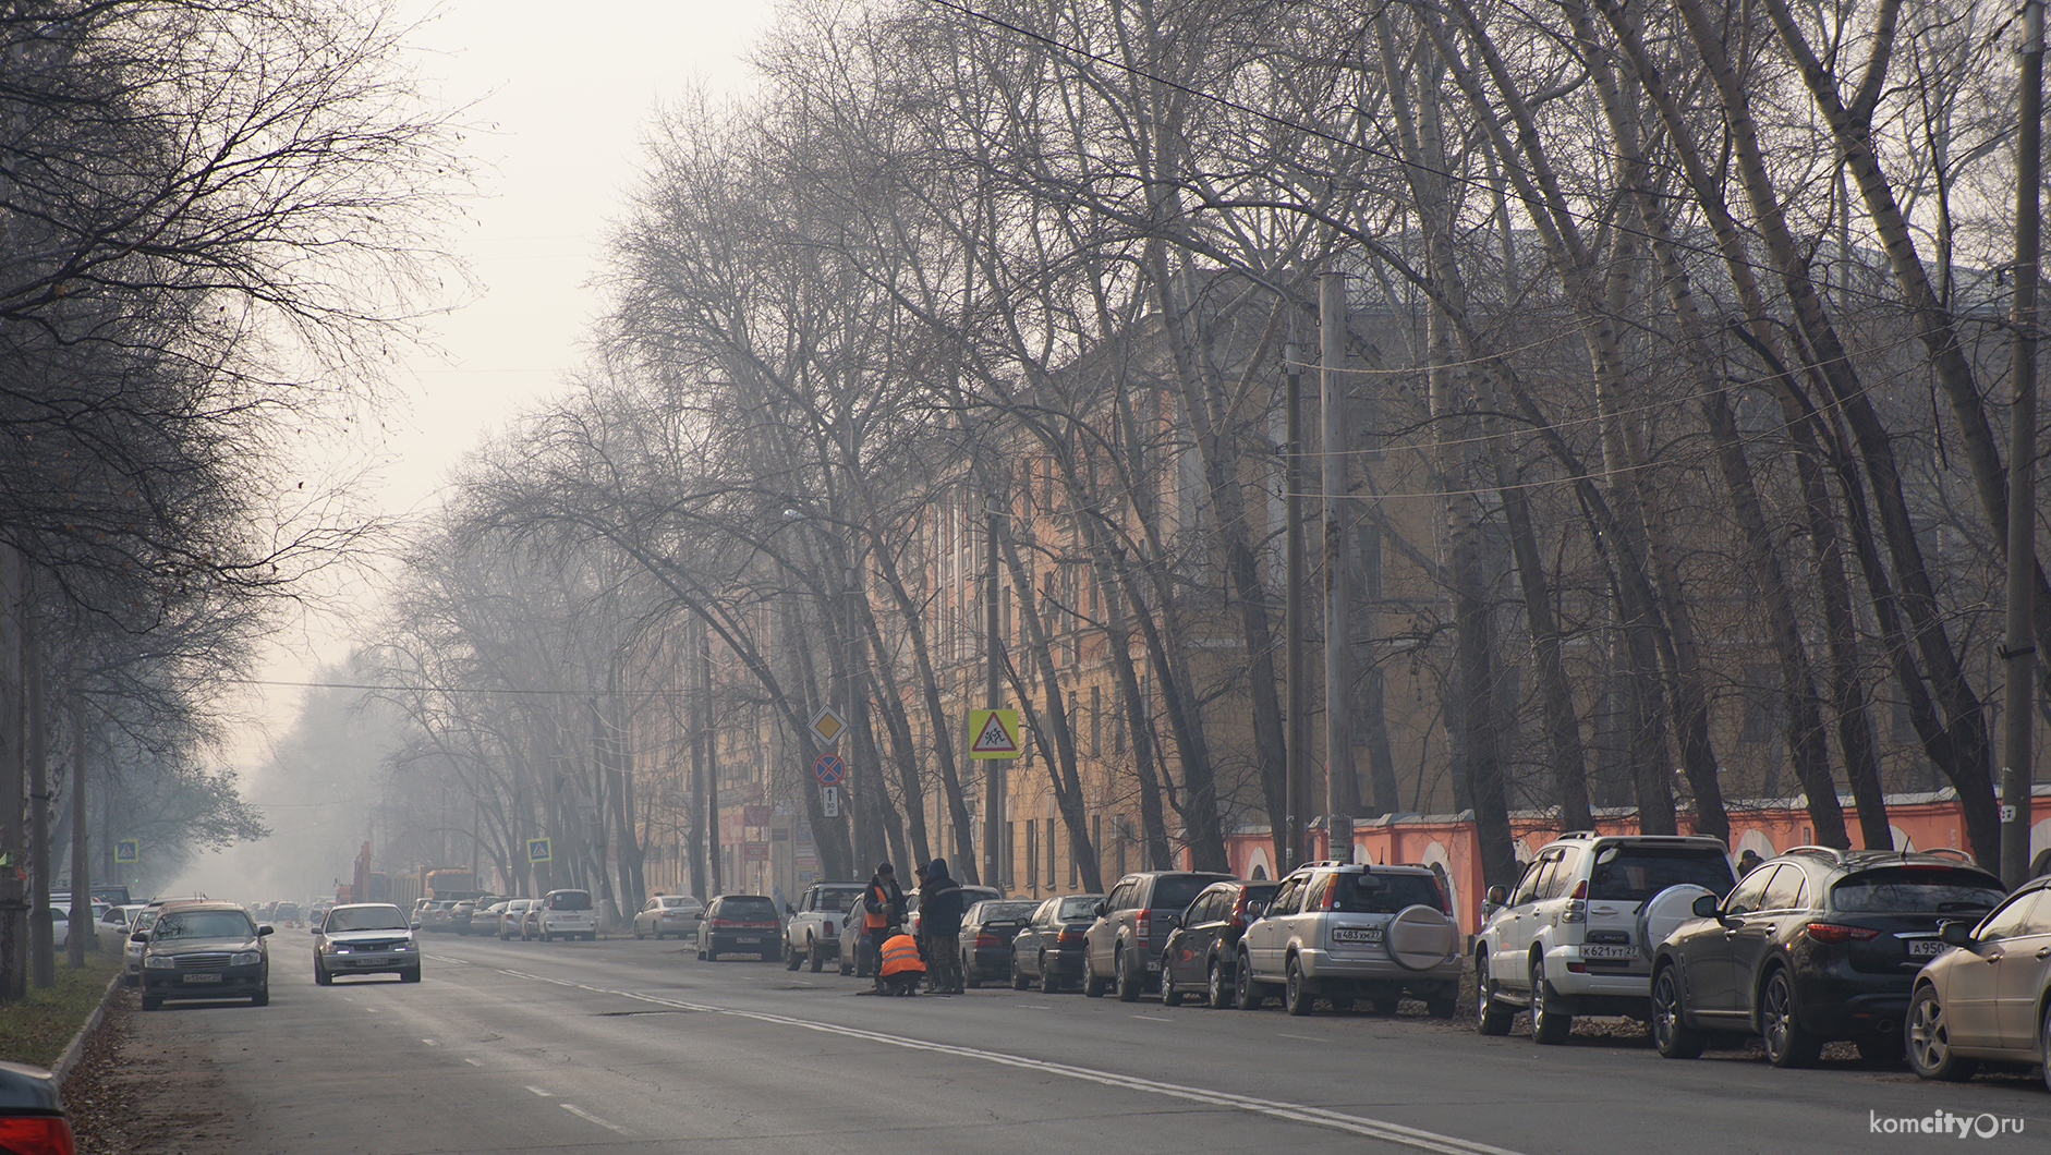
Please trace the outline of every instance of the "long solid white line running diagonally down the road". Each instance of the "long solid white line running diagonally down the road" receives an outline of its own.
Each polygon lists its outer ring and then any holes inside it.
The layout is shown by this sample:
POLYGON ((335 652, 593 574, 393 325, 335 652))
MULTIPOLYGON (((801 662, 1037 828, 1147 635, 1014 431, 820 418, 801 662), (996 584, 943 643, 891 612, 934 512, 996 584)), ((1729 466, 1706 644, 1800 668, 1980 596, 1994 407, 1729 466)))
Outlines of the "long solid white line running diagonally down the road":
POLYGON ((1153 1096, 1163 1096, 1171 1100, 1183 1100, 1206 1106, 1226 1106, 1243 1110, 1247 1114, 1263 1114, 1268 1118, 1280 1118, 1286 1122, 1300 1122, 1306 1126, 1323 1126, 1331 1130, 1343 1130, 1348 1134, 1360 1134, 1366 1139, 1380 1139, 1382 1143, 1397 1143, 1401 1147, 1415 1147, 1417 1151, 1436 1151, 1438 1155, 1522 1155, 1510 1147, 1495 1147, 1491 1143, 1477 1143, 1473 1139, 1460 1139, 1456 1134, 1440 1134, 1436 1130, 1423 1130, 1415 1126, 1405 1126, 1401 1122, 1389 1122, 1380 1118, 1368 1118, 1360 1114, 1345 1114, 1327 1108, 1313 1108, 1309 1104, 1288 1104, 1274 1100, 1255 1100, 1251 1096, 1235 1096, 1226 1091, 1214 1091, 1208 1087, 1188 1087, 1181 1083, 1163 1083, 1159 1079, 1142 1079, 1138 1075, 1120 1075, 1116 1071, 1097 1071, 1093 1067, 1075 1067, 1069 1063, 1048 1063, 1042 1059, 1023 1059, 1019 1054, 1005 1054, 1001 1050, 982 1050, 980 1046, 956 1046, 950 1042, 927 1042, 923 1038, 907 1038, 900 1034, 882 1034, 874 1030, 861 1030, 829 1022, 800 1020, 792 1015, 771 1015, 765 1011, 736 1011, 732 1007, 716 1007, 712 1003, 685 1003, 681 999, 662 999, 658 995, 640 995, 634 991, 613 991, 626 999, 638 999, 644 1003, 658 1003, 665 1007, 683 1007, 689 1011, 706 1011, 716 1015, 732 1015, 742 1020, 755 1020, 777 1026, 794 1026, 800 1030, 816 1030, 822 1034, 839 1034, 845 1038, 857 1038, 863 1042, 880 1042, 884 1046, 902 1046, 904 1050, 929 1050, 935 1054, 952 1054, 958 1059, 978 1059, 982 1063, 995 1063, 999 1067, 1017 1067, 1023 1071, 1040 1071, 1046 1075, 1060 1075, 1064 1079, 1081 1079, 1087 1083, 1097 1083, 1103 1087, 1124 1089, 1124 1091, 1144 1091, 1153 1096))

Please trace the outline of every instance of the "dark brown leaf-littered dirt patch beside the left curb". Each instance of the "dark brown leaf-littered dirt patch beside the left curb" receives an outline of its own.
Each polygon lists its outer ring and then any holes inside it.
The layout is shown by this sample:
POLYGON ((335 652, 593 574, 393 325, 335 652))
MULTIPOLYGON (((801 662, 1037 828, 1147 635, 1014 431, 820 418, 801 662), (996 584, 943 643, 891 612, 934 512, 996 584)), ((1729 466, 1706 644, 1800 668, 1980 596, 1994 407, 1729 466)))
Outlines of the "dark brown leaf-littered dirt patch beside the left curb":
POLYGON ((123 991, 64 1087, 78 1155, 232 1155, 242 1104, 232 1102, 211 1057, 211 1038, 144 1015, 123 991))

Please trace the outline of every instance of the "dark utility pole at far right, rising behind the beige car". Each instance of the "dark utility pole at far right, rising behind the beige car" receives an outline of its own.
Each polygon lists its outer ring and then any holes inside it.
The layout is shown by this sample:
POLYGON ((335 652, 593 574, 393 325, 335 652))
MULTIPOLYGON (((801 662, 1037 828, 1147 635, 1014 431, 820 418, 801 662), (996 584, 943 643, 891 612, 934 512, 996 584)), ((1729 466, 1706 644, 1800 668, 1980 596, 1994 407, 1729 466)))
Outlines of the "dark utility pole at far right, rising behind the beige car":
POLYGON ((2043 70, 2045 6, 2022 0, 2022 43, 2018 45, 2020 94, 2016 109, 2016 295, 2014 404, 2008 410, 2008 636, 2002 665, 2008 685, 2002 693, 2002 880, 2020 886, 2030 868, 2030 712, 2037 685, 2037 279, 2039 279, 2039 195, 2043 183, 2043 70))

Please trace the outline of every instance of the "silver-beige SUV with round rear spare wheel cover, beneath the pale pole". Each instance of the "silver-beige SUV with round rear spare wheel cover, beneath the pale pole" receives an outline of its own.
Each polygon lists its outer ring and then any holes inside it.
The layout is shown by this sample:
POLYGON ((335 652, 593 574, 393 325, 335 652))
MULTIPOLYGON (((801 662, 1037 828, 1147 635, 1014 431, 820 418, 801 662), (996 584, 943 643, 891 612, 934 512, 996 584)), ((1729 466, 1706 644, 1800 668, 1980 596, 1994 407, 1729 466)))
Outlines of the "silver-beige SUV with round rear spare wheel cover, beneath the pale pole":
POLYGON ((1239 940, 1233 995, 1255 1009, 1282 989, 1282 1009, 1306 1015, 1315 999, 1348 1011, 1356 999, 1393 1013, 1407 993, 1434 1018, 1460 1003, 1460 925, 1425 866, 1309 862, 1276 888, 1239 940))

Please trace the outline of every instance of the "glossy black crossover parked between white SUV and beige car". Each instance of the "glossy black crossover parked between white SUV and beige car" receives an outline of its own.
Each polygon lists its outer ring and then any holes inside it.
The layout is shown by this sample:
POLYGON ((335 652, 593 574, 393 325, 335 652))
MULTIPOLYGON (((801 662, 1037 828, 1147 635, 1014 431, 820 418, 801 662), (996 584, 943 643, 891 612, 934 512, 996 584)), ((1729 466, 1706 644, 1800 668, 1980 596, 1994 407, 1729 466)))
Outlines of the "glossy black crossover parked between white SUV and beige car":
POLYGON ((1758 1034, 1774 1067, 1807 1067, 1825 1042, 1901 1059, 1916 972, 1946 950, 1938 923, 1979 919, 2002 880, 1936 853, 1797 847, 1717 903, 1696 899, 1653 954, 1653 1042, 1694 1059, 1706 1032, 1758 1034))

